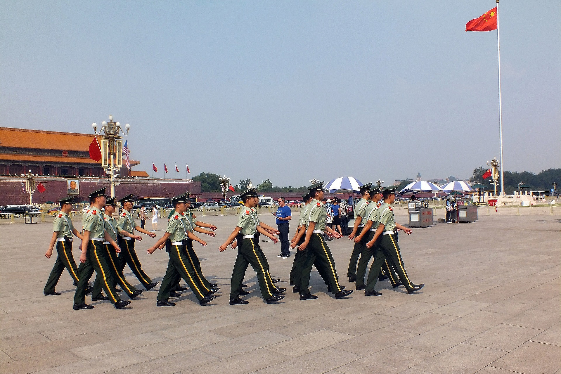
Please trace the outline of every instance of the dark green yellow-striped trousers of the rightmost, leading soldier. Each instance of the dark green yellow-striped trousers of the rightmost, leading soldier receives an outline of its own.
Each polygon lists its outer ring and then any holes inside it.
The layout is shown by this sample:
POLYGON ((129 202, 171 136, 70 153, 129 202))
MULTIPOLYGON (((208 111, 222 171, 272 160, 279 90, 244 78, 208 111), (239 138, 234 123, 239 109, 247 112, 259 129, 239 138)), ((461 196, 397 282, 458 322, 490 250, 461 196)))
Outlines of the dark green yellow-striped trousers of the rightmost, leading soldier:
POLYGON ((388 260, 389 265, 393 266, 396 270, 396 273, 405 288, 407 290, 411 290, 413 285, 407 276, 407 272, 405 271, 405 266, 403 265, 403 260, 401 258, 401 252, 399 252, 399 246, 397 245, 394 234, 382 234, 380 238, 378 238, 378 241, 374 243, 372 249, 374 252, 374 262, 370 267, 370 273, 368 274, 365 290, 374 290, 376 281, 378 281, 380 269, 386 260, 388 260))

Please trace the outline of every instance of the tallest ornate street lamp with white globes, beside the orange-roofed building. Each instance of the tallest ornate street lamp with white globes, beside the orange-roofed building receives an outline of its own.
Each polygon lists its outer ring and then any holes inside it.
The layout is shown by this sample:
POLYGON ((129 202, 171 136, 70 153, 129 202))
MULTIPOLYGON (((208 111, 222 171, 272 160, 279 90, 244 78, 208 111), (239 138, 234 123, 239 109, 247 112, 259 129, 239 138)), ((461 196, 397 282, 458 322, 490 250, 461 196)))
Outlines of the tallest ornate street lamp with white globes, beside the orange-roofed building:
POLYGON ((115 170, 121 169, 123 165, 123 140, 119 132, 123 135, 128 134, 128 130, 131 128, 130 124, 126 124, 126 132, 122 129, 120 122, 113 122, 113 114, 109 114, 109 122, 102 122, 102 128, 97 131, 98 125, 92 123, 91 127, 94 129, 94 133, 101 136, 100 147, 102 149, 102 167, 105 170, 105 174, 109 174, 111 178, 111 197, 115 197, 115 170))

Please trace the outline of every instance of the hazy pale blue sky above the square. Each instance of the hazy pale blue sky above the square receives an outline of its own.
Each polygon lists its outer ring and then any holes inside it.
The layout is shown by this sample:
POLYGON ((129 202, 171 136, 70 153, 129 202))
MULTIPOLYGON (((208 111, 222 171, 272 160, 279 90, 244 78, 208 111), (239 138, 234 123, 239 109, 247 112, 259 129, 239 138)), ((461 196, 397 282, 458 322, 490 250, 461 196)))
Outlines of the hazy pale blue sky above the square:
MULTIPOLYGON (((89 133, 113 114, 160 177, 465 178, 499 156, 496 31, 465 31, 494 6, 6 1, 0 126, 89 133)), ((561 167, 561 2, 499 16, 505 170, 561 167)))

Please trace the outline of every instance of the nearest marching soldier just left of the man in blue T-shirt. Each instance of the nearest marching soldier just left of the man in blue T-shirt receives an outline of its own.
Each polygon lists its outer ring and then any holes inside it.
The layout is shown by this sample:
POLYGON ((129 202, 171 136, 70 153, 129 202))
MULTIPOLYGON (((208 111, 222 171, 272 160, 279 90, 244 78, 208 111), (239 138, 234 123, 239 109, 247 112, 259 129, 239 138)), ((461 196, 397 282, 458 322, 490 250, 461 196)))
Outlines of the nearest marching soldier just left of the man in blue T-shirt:
POLYGON ((263 295, 266 303, 277 302, 284 298, 284 295, 280 295, 280 293, 284 292, 286 289, 276 288, 270 276, 267 276, 268 266, 262 255, 263 252, 261 252, 258 240, 259 234, 270 238, 274 243, 277 243, 278 239, 268 230, 261 227, 259 220, 254 214, 252 208, 259 203, 256 188, 243 191, 240 193, 240 197, 243 201, 243 207, 240 211, 238 224, 232 234, 226 239, 226 242, 218 248, 220 252, 223 252, 228 248, 229 244, 236 239, 236 243, 232 244, 232 248, 238 248, 238 256, 232 271, 230 305, 249 303, 248 301, 240 299, 243 276, 245 275, 248 265, 251 265, 257 274, 261 295, 263 295))

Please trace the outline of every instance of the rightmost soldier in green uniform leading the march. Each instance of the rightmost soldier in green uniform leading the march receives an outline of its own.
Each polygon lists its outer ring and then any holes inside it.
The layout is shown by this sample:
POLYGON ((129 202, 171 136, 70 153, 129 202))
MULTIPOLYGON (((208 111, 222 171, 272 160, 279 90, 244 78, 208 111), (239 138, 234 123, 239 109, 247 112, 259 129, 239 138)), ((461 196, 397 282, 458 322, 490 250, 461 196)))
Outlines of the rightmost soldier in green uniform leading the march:
MULTIPOLYGON (((392 204, 396 200, 396 187, 388 187, 382 190, 384 197, 383 204, 378 208, 378 228, 374 233, 374 237, 366 243, 366 247, 375 248, 374 262, 370 267, 366 289, 364 294, 366 296, 381 295, 374 287, 378 280, 378 274, 382 264, 386 259, 396 269, 399 279, 407 289, 407 293, 413 293, 424 287, 424 284, 414 284, 409 280, 399 246, 397 245, 397 230, 403 230, 407 235, 411 234, 411 229, 396 223, 396 218, 393 214, 392 204)), ((374 251, 374 250, 373 250, 374 251)))

